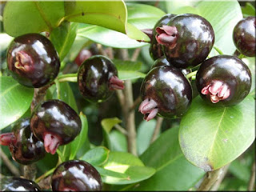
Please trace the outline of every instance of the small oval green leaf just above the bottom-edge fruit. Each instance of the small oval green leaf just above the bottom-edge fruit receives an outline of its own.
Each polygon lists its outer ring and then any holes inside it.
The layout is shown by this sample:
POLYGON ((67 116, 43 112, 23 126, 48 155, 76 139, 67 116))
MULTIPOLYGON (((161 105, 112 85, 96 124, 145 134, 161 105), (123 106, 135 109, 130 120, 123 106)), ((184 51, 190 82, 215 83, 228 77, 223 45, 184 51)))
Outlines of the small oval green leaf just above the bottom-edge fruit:
POLYGON ((84 154, 81 160, 89 162, 93 166, 101 166, 109 158, 110 150, 104 146, 95 147, 84 154))

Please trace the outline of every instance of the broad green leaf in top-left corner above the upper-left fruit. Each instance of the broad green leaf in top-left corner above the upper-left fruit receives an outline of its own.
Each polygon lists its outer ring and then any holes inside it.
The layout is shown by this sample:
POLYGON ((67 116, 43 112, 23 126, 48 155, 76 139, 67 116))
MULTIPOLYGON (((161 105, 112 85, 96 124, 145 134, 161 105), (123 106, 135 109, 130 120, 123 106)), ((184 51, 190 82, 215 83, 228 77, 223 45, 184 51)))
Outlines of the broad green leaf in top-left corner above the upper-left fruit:
POLYGON ((50 32, 64 17, 64 2, 6 2, 3 25, 6 33, 22 34, 50 32))

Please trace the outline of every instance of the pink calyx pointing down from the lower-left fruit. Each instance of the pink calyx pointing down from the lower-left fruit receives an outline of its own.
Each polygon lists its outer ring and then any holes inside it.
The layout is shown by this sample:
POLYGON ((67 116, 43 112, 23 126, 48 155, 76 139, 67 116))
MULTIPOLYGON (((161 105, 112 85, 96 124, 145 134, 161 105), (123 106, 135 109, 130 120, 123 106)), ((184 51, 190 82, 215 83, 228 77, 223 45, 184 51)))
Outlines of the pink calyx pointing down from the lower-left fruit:
POLYGON ((46 133, 43 137, 45 150, 47 153, 55 154, 58 146, 60 145, 60 139, 51 133, 46 133))

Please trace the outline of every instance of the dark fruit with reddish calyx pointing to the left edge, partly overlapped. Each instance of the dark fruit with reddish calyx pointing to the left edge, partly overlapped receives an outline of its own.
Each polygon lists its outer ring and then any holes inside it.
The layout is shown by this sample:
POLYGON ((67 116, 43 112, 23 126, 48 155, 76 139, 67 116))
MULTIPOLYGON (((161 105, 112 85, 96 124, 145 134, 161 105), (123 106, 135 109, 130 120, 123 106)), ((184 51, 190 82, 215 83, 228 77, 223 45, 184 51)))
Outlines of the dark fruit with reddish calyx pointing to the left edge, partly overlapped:
POLYGON ((37 162, 45 156, 43 143, 30 130, 29 118, 16 122, 12 132, 0 134, 0 138, 0 144, 9 146, 13 159, 23 165, 37 162))

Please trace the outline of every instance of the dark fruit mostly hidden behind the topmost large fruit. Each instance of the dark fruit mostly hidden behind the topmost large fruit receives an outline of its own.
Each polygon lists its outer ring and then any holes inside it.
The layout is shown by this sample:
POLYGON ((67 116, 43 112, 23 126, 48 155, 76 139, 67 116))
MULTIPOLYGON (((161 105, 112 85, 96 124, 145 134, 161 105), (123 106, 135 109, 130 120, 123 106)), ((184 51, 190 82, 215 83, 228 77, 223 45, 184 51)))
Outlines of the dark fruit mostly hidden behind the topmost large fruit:
POLYGON ((163 25, 167 25, 167 23, 170 22, 170 19, 173 18, 174 16, 176 16, 176 14, 166 14, 162 18, 160 18, 158 22, 154 25, 153 37, 150 42, 150 56, 154 60, 161 58, 164 55, 162 51, 162 45, 160 45, 155 38, 155 35, 157 34, 155 29, 157 27, 162 27, 163 25))

